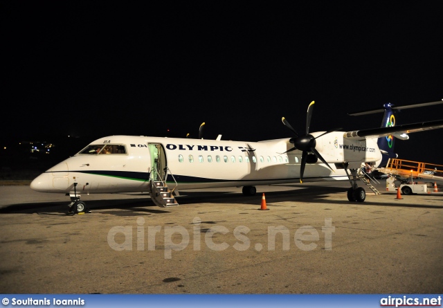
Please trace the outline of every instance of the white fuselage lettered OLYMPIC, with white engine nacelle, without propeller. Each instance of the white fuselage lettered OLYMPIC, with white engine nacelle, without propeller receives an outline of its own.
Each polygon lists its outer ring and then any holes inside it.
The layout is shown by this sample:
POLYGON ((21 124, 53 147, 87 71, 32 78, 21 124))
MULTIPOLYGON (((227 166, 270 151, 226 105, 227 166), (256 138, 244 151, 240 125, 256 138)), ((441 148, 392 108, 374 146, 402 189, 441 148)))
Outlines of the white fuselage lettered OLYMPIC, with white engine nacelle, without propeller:
MULTIPOLYGON (((323 132, 312 133, 320 136, 323 132)), ((315 156, 308 159, 303 181, 345 180, 347 168, 364 162, 377 165, 377 138, 355 140, 332 132, 316 139, 332 170, 315 156)), ((293 183, 300 180, 302 152, 291 149, 289 138, 270 141, 219 141, 149 136, 107 136, 46 170, 31 183, 40 192, 145 192, 154 172, 165 172, 171 188, 217 188, 293 183), (111 154, 93 147, 121 149, 111 154), (161 162, 161 164, 160 164, 161 162), (163 167, 167 170, 163 170, 163 167)))

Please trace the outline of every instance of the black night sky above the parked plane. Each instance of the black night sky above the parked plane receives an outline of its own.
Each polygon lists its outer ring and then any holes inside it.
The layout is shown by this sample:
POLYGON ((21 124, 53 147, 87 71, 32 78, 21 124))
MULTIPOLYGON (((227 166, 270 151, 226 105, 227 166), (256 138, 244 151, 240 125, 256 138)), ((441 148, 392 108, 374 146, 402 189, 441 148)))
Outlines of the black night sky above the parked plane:
MULTIPOLYGON (((438 3, 90 2, 2 2, 2 138, 197 138, 206 123, 204 138, 260 141, 292 136, 282 116, 303 132, 312 100, 314 132, 443 98, 438 3)), ((397 125, 439 119, 443 105, 406 109, 397 125)), ((442 134, 396 152, 443 165, 442 134)))

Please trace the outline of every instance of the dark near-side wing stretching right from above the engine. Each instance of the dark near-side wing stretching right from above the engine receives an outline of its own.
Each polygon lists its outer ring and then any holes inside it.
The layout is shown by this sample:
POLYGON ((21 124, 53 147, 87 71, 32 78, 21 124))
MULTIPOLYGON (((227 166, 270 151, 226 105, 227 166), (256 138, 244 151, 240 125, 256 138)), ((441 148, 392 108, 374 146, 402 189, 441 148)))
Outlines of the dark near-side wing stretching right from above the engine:
POLYGON ((345 132, 345 138, 361 139, 361 138, 379 138, 390 135, 409 134, 416 132, 424 132, 431 129, 443 128, 443 120, 435 120, 430 122, 413 123, 398 125, 392 127, 378 127, 371 129, 361 129, 359 131, 345 132))

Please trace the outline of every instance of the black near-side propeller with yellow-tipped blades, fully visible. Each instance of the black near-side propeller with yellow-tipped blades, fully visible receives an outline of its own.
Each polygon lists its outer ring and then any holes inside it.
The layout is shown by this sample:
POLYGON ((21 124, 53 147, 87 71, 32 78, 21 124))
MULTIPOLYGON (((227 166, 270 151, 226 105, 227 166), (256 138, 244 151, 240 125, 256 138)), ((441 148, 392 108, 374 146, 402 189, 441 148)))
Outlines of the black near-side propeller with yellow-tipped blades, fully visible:
MULTIPOLYGON (((300 150, 302 151, 302 162, 300 165, 300 183, 303 183, 303 173, 305 172, 305 165, 307 161, 308 152, 312 152, 315 154, 315 156, 320 159, 327 167, 329 167, 330 170, 332 170, 332 167, 328 165, 328 163, 325 161, 325 159, 320 155, 320 153, 316 150, 316 138, 319 138, 325 134, 329 134, 332 132, 335 132, 341 128, 336 129, 329 129, 327 132, 324 132, 323 134, 319 136, 312 136, 309 134, 309 125, 311 125, 311 117, 312 117, 312 110, 314 109, 314 100, 309 104, 307 107, 307 116, 306 116, 306 134, 303 136, 300 136, 295 129, 289 124, 289 122, 283 117, 282 122, 283 124, 293 132, 296 136, 289 139, 289 142, 293 144, 293 147, 291 149, 287 150, 284 153, 291 152, 293 150, 300 150)), ((334 170, 332 170, 334 171, 334 170)))

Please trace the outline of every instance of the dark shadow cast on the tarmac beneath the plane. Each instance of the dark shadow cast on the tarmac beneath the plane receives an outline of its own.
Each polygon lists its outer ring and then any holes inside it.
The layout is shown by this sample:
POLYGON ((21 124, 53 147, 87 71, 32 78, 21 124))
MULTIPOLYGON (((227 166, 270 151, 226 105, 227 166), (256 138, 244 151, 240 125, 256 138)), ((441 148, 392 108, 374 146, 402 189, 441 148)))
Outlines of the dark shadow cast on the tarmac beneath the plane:
MULTIPOLYGON (((290 185, 285 186, 289 188, 290 185)), ((262 201, 262 193, 266 194, 266 204, 267 206, 273 206, 273 203, 277 202, 296 202, 296 203, 323 203, 323 204, 337 204, 343 205, 348 204, 349 206, 395 206, 395 207, 406 207, 406 208, 443 208, 443 206, 435 205, 420 205, 420 204, 406 204, 401 203, 399 200, 395 200, 395 195, 392 195, 392 203, 377 202, 377 196, 374 198, 368 197, 364 202, 349 202, 347 199, 345 201, 341 200, 331 200, 327 199, 330 194, 345 193, 346 190, 343 187, 330 187, 330 186, 309 186, 309 185, 296 185, 294 190, 283 190, 283 191, 262 191, 258 192, 254 196, 244 196, 241 192, 233 192, 232 190, 226 191, 183 191, 181 196, 177 197, 177 201, 180 206, 192 206, 196 203, 216 203, 220 205, 222 210, 226 206, 232 203, 244 204, 247 206, 254 206, 260 208, 262 201), (300 189, 302 188, 302 189, 300 189)), ((140 194, 141 196, 146 195, 144 199, 102 199, 102 200, 89 200, 85 201, 87 203, 87 208, 91 211, 96 210, 106 210, 103 214, 106 215, 116 215, 116 216, 136 216, 136 215, 151 215, 151 214, 161 214, 161 213, 171 213, 174 212, 174 208, 158 208, 150 200, 149 194, 140 194), (111 210, 113 209, 113 210, 111 210), (110 211, 111 210, 111 211, 110 211)), ((412 196, 411 196, 412 197, 412 196)), ((427 197, 426 195, 422 197, 427 197)), ((39 203, 21 203, 13 204, 6 208, 0 209, 0 214, 8 213, 22 213, 22 214, 33 214, 37 213, 39 215, 66 215, 68 211, 69 201, 64 203, 57 202, 39 202, 39 203)))

